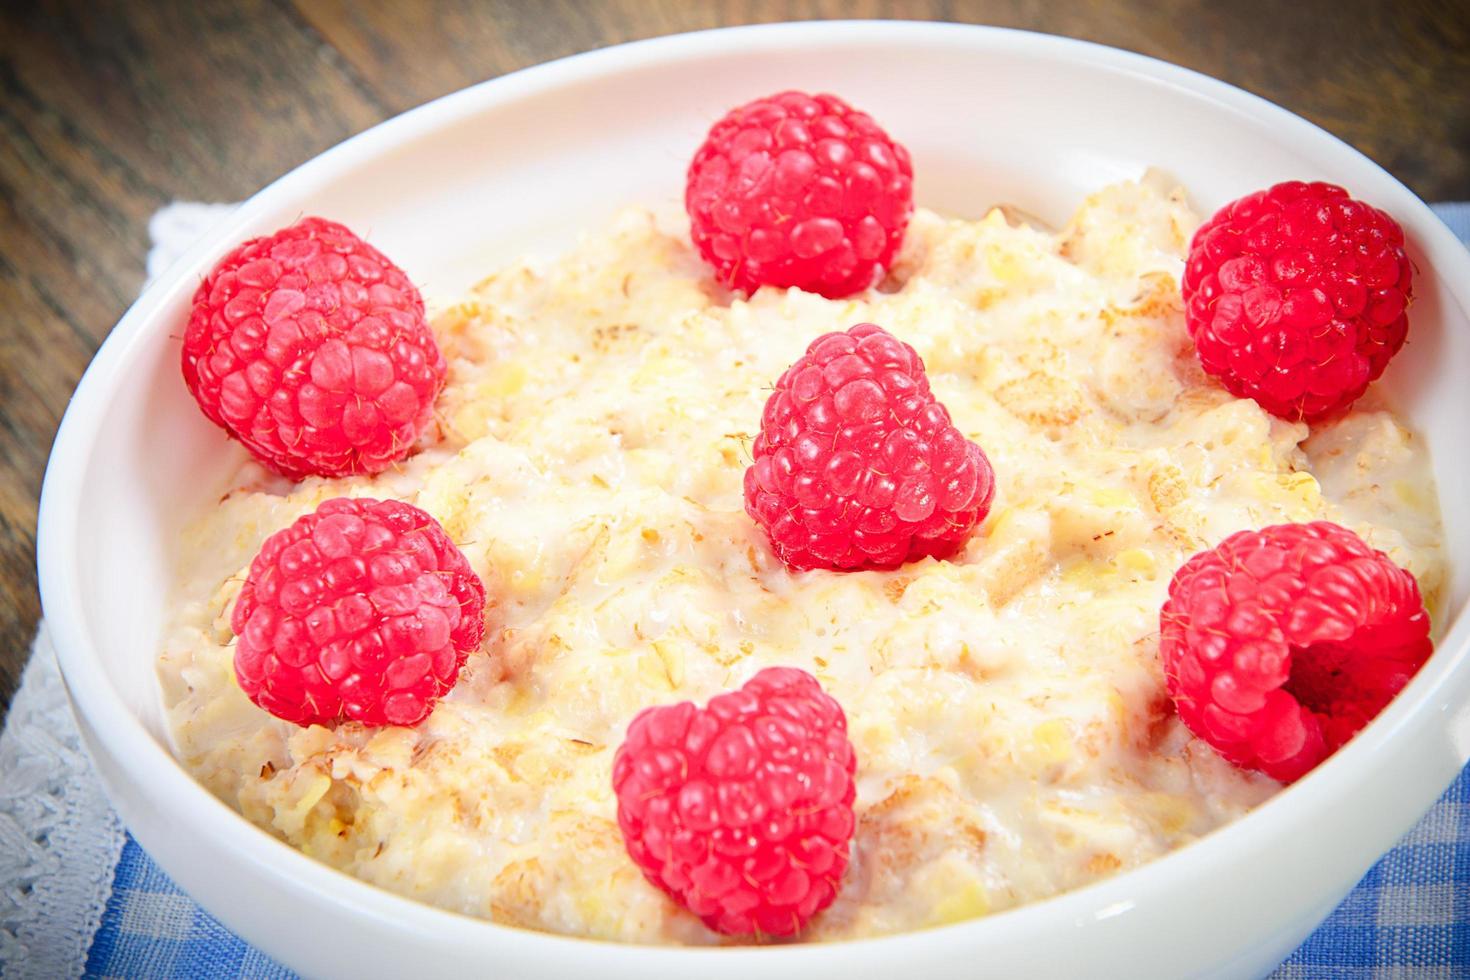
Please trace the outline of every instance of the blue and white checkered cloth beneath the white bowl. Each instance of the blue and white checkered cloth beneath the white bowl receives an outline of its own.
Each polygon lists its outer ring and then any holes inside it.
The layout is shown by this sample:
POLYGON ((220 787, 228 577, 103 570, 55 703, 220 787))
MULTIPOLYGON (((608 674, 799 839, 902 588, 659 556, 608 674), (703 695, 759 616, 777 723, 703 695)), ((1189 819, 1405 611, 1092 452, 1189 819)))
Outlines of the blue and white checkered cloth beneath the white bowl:
MULTIPOLYGON (((1435 210, 1470 242, 1470 203, 1435 210)), ((131 836, 85 976, 295 977, 196 905, 131 836)), ((1329 977, 1470 977, 1470 768, 1272 974, 1329 977)))

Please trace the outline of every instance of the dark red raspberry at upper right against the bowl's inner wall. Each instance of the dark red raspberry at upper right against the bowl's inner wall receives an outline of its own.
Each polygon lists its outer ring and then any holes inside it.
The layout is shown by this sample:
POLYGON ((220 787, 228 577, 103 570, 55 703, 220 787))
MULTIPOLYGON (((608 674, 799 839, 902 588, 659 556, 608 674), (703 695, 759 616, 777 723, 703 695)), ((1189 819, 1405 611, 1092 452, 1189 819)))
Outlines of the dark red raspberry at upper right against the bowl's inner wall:
POLYGON ((1332 184, 1277 184, 1195 232, 1189 335, 1230 394, 1316 422, 1351 406, 1404 345, 1413 276, 1392 217, 1332 184))

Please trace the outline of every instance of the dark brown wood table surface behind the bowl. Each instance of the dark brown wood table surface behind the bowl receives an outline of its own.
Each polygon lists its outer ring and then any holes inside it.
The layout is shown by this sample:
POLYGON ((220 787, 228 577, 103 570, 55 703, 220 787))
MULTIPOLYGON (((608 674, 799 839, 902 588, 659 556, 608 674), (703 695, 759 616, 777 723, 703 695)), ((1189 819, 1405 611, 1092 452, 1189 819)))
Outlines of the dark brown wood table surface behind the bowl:
POLYGON ((375 122, 526 65, 831 16, 1142 51, 1313 119, 1426 200, 1470 198, 1466 0, 0 0, 0 710, 40 613, 35 505, 51 436, 143 285, 154 210, 245 197, 375 122))

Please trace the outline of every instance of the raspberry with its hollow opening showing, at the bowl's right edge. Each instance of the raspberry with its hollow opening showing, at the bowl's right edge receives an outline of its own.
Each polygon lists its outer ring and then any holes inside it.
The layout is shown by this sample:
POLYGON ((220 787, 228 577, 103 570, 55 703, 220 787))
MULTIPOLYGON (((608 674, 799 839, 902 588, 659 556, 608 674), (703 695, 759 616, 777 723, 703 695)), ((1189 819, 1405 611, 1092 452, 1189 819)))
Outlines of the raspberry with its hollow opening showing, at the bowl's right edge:
POLYGON ((1242 530, 1175 574, 1158 617, 1169 693, 1241 768, 1308 773, 1433 651, 1419 585, 1338 525, 1242 530))

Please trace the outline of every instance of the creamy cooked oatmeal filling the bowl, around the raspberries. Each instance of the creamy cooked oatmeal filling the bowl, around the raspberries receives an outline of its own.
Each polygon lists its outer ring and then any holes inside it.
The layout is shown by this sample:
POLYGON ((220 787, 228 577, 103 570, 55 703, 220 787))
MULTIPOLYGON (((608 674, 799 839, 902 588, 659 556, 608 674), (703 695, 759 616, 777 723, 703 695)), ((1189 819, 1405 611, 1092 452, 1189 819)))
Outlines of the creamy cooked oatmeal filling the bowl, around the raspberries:
POLYGON ((1370 391, 1292 425, 1197 364, 1177 279, 1197 217, 1155 178, 1048 234, 919 212, 889 281, 831 301, 711 287, 670 222, 625 213, 437 320, 441 439, 376 479, 248 467, 184 538, 160 657, 178 754, 306 854, 435 905, 635 942, 719 937, 623 851, 610 767, 639 708, 803 667, 858 754, 853 867, 813 939, 983 915, 1139 865, 1279 786, 1169 710, 1169 579, 1226 535, 1335 520, 1444 576, 1423 445, 1370 391), (953 561, 792 574, 745 516, 770 385, 863 320, 914 345, 989 454, 994 510, 953 561), (492 601, 419 729, 297 729, 247 701, 229 611, 272 532, 328 497, 442 522, 492 601))

